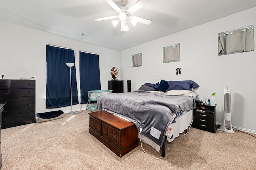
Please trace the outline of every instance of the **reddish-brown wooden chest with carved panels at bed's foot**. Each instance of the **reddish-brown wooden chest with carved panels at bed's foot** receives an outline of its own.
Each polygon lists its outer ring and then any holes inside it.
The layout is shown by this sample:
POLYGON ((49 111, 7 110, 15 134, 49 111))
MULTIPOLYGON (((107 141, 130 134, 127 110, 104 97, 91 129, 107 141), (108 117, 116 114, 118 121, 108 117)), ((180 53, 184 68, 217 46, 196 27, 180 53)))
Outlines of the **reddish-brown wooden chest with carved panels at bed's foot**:
POLYGON ((119 157, 138 146, 138 130, 134 123, 106 111, 89 114, 89 133, 119 157))

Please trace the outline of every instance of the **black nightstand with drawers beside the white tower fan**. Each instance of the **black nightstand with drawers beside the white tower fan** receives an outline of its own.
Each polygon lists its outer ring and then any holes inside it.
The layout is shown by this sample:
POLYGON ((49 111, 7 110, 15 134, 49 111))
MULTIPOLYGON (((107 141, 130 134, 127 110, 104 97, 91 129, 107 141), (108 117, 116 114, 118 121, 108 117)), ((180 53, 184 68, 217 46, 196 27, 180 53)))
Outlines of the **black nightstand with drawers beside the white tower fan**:
POLYGON ((192 127, 215 133, 217 129, 216 106, 196 104, 192 127))

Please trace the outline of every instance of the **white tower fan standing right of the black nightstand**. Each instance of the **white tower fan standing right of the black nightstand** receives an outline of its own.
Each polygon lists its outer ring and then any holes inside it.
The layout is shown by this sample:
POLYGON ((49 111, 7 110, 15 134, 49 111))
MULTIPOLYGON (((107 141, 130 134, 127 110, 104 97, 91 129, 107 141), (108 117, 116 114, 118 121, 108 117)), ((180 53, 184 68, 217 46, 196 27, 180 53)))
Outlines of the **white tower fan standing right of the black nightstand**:
POLYGON ((227 133, 235 133, 231 124, 231 94, 230 88, 224 88, 224 98, 223 98, 223 118, 222 124, 220 126, 220 131, 227 133), (229 126, 226 126, 226 121, 229 122, 229 126), (228 127, 228 129, 226 128, 228 127))

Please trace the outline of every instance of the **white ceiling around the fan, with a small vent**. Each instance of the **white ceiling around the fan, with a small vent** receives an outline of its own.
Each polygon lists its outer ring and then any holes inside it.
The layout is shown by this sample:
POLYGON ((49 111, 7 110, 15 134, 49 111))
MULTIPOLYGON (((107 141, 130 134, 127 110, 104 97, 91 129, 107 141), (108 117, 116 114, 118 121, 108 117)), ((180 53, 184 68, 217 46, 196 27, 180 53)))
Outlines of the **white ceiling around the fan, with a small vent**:
POLYGON ((152 23, 128 23, 125 35, 120 23, 94 20, 117 14, 104 0, 0 0, 0 20, 122 51, 253 7, 256 0, 151 0, 132 15, 152 23))

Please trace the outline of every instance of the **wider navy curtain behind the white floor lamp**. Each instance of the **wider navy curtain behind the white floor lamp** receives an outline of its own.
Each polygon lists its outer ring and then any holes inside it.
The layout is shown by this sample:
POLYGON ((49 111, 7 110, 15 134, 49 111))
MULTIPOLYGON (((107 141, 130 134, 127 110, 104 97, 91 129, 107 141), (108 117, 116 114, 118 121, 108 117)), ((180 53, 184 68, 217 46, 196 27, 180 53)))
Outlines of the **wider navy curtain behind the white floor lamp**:
MULTIPOLYGON (((46 108, 71 106, 70 68, 75 63, 74 50, 46 45, 46 108)), ((79 104, 76 65, 71 68, 72 105, 79 104)))

